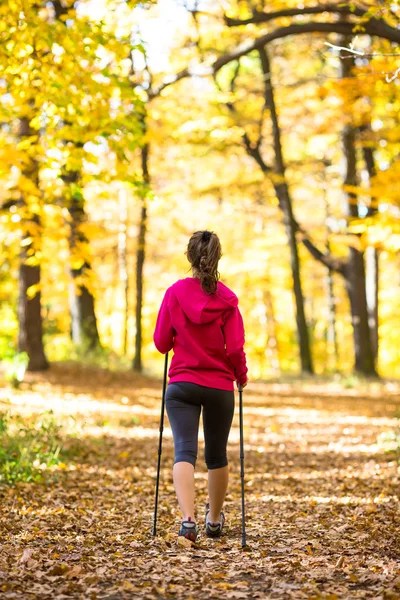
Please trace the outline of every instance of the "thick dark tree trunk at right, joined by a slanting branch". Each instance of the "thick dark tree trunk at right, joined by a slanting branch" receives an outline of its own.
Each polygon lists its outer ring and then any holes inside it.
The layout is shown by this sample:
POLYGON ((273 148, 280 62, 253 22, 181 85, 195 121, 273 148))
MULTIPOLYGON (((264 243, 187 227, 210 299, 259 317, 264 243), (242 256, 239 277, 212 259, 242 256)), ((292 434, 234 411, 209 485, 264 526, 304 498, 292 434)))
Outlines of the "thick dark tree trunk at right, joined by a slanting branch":
MULTIPOLYGON (((342 38, 340 43, 347 46, 351 40, 342 38)), ((341 76, 351 75, 351 61, 341 61, 341 76)), ((355 148, 355 129, 347 124, 342 133, 343 156, 345 160, 344 185, 357 185, 357 165, 355 148)), ((357 197, 344 192, 347 216, 358 218, 357 197)), ((356 236, 355 236, 356 237, 356 236)), ((356 237, 358 240, 358 237, 356 237)), ((349 259, 344 269, 346 289, 349 295, 354 335, 355 370, 366 376, 376 376, 374 356, 372 352, 370 329, 368 325, 368 309, 365 284, 364 253, 354 246, 349 248, 349 259)))

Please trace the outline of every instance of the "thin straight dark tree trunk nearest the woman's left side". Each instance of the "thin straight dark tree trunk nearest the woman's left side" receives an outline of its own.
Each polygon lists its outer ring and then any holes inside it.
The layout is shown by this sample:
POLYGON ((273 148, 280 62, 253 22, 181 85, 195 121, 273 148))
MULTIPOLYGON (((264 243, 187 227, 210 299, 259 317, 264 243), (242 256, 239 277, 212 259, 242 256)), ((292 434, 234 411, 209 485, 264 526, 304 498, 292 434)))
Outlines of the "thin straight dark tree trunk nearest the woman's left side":
POLYGON ((136 337, 135 337, 135 356, 133 359, 133 369, 142 371, 142 307, 143 307, 143 269, 145 261, 146 248, 146 230, 147 230, 147 190, 150 185, 149 172, 149 144, 144 144, 141 151, 142 174, 145 184, 145 190, 142 194, 142 207, 140 212, 138 247, 136 253, 136 337))

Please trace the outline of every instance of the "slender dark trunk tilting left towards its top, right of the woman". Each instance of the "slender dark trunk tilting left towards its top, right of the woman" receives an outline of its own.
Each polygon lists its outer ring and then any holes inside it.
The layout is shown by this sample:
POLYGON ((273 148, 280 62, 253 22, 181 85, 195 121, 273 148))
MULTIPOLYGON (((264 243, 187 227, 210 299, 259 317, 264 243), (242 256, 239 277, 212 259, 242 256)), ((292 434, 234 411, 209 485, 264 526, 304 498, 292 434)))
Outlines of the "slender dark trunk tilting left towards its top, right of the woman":
POLYGON ((296 325, 300 347, 301 370, 306 373, 313 373, 313 365, 310 351, 310 340, 304 310, 304 298, 301 285, 300 261, 296 241, 296 225, 293 218, 292 200, 290 197, 289 188, 286 183, 286 167, 283 160, 281 133, 276 111, 274 91, 271 82, 271 67, 266 48, 259 50, 261 66, 264 75, 264 98, 265 104, 270 111, 273 144, 275 152, 275 173, 276 179, 280 179, 281 183, 277 183, 274 178, 275 192, 278 197, 279 206, 283 212, 286 235, 289 242, 290 262, 293 278, 293 293, 296 306, 296 325))

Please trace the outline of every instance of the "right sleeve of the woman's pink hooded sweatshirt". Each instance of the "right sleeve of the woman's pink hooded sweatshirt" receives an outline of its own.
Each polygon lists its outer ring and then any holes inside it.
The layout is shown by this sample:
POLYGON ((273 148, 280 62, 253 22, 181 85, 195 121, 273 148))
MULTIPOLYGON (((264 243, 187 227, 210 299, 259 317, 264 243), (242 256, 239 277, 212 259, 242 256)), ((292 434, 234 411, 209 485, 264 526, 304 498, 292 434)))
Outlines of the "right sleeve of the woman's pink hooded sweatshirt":
POLYGON ((223 326, 225 351, 233 367, 236 381, 243 384, 247 381, 246 354, 244 353, 244 326, 238 307, 229 311, 223 326))

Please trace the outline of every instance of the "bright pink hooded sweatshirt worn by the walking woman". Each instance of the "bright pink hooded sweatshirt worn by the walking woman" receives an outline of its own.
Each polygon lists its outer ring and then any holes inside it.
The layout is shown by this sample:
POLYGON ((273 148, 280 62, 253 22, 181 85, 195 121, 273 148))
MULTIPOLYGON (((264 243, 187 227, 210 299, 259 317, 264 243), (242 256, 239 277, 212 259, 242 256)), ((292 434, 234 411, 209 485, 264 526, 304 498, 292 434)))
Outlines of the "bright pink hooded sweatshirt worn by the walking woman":
POLYGON ((195 277, 180 279, 165 292, 154 343, 162 354, 174 349, 170 383, 188 381, 221 390, 247 381, 243 319, 237 296, 218 282, 203 292, 195 277))

